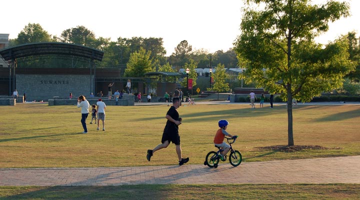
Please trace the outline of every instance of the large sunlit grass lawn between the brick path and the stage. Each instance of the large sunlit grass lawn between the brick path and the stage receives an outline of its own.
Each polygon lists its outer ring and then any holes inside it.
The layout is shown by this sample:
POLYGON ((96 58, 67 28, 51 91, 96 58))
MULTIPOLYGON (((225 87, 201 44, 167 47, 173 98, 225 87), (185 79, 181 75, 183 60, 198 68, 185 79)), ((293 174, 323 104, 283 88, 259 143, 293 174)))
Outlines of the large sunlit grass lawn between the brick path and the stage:
MULTIPOLYGON (((168 106, 107 106, 105 131, 82 134, 76 106, 21 104, 0 106, 0 167, 99 167, 177 164, 173 144, 146 160, 146 149, 160 143, 168 106)), ((248 104, 181 106, 183 156, 203 163, 214 150, 217 121, 239 135, 233 144, 243 161, 360 155, 359 105, 302 105, 293 109, 294 143, 287 144, 284 105, 250 109, 248 104)))

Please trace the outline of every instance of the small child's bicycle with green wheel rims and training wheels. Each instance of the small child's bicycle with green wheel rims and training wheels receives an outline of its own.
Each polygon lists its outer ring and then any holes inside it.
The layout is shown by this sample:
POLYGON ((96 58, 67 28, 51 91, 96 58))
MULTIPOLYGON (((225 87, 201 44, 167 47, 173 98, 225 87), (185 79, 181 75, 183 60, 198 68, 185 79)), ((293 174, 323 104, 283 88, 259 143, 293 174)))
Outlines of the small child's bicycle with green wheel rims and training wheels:
MULTIPOLYGON (((238 166, 241 163, 242 155, 238 150, 234 150, 231 146, 231 144, 236 141, 237 136, 234 138, 231 138, 231 137, 225 137, 225 138, 227 139, 227 143, 230 144, 229 162, 232 166, 238 166)), ((218 151, 217 152, 215 152, 215 151, 208 152, 206 155, 205 161, 204 161, 204 165, 217 168, 217 164, 218 164, 219 160, 226 161, 227 155, 224 155, 224 159, 220 159, 220 153, 223 151, 223 149, 216 145, 215 145, 215 147, 218 148, 218 151)))

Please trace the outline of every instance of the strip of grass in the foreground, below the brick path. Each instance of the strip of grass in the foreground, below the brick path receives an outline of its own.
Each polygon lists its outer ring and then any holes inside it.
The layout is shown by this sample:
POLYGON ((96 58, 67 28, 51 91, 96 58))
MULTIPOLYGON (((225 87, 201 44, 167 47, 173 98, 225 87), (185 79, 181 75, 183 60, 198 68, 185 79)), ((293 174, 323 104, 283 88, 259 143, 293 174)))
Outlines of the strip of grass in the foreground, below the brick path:
POLYGON ((0 187, 0 199, 359 199, 359 184, 0 187))

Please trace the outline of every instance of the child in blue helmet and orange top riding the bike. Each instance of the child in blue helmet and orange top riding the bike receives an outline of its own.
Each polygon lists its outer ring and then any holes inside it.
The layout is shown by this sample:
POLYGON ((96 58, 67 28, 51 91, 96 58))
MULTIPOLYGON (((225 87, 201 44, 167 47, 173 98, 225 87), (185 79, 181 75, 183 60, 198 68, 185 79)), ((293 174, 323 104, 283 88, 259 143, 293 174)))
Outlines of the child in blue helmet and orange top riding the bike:
POLYGON ((225 138, 225 135, 229 136, 231 138, 237 137, 236 135, 232 136, 231 134, 226 132, 227 125, 228 125, 228 121, 225 119, 221 119, 218 121, 218 126, 220 128, 216 131, 216 134, 215 134, 215 137, 213 140, 213 142, 216 146, 221 147, 223 149, 223 151, 221 151, 221 154, 220 154, 220 159, 222 161, 225 160, 224 155, 226 155, 226 153, 230 150, 230 145, 228 145, 227 143, 225 143, 223 141, 223 139, 225 138))

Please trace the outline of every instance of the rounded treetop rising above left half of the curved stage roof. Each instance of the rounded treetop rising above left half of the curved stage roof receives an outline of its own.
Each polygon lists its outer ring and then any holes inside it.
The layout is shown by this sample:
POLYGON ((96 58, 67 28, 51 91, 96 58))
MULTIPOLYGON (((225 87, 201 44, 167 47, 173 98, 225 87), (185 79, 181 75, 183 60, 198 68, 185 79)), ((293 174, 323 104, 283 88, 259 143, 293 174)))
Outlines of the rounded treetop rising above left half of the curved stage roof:
POLYGON ((51 35, 38 23, 28 23, 17 35, 17 44, 51 41, 51 35))

